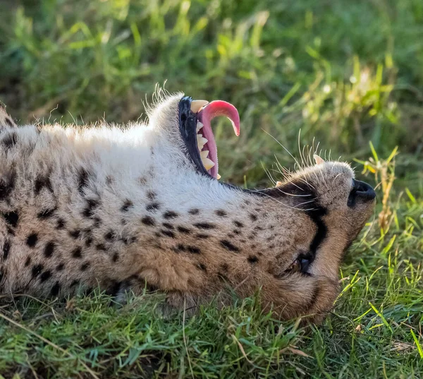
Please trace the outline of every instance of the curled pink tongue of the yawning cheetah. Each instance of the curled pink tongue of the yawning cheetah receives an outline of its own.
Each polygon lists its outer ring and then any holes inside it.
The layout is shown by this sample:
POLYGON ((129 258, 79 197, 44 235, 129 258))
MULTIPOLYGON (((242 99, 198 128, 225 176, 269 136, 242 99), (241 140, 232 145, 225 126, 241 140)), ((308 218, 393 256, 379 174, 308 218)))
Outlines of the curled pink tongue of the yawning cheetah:
POLYGON ((214 135, 212 131, 211 122, 214 117, 226 116, 231 120, 233 131, 235 135, 240 135, 240 116, 237 109, 228 102, 223 102, 222 100, 215 100, 207 104, 198 114, 197 119, 202 124, 203 128, 199 131, 204 138, 207 138, 209 142, 204 146, 203 150, 209 150, 209 159, 211 159, 215 165, 212 169, 209 169, 209 174, 216 178, 217 173, 219 172, 219 164, 217 162, 217 147, 216 141, 214 140, 214 135))

